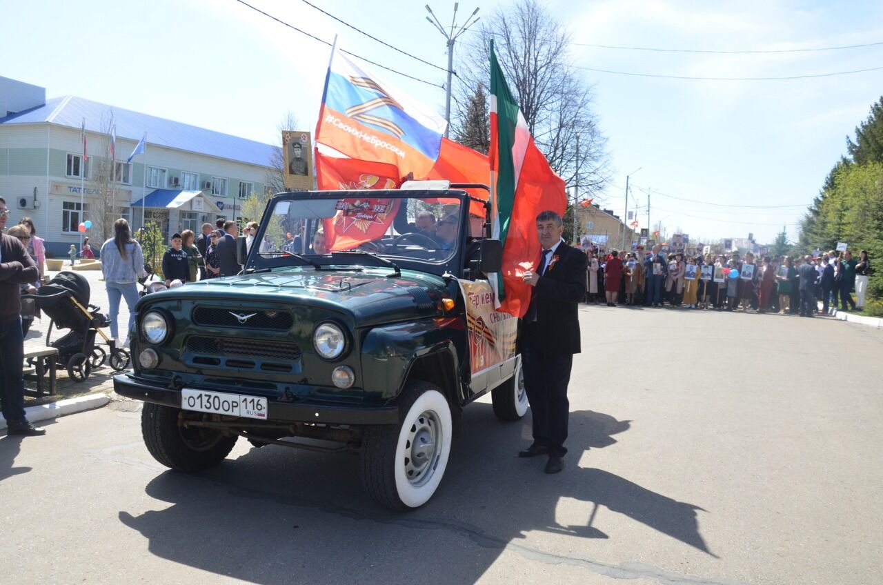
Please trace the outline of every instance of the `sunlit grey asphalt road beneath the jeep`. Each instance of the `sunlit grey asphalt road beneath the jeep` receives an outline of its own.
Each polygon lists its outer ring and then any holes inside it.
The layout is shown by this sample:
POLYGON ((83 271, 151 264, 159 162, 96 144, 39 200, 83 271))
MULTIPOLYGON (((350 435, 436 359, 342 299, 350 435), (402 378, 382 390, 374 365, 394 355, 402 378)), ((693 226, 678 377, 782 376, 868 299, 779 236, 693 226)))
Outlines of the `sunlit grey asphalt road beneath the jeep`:
POLYGON ((583 308, 561 475, 529 421, 467 408, 433 500, 376 507, 358 460, 240 442, 165 470, 137 403, 0 438, 0 581, 873 583, 883 330, 583 308))

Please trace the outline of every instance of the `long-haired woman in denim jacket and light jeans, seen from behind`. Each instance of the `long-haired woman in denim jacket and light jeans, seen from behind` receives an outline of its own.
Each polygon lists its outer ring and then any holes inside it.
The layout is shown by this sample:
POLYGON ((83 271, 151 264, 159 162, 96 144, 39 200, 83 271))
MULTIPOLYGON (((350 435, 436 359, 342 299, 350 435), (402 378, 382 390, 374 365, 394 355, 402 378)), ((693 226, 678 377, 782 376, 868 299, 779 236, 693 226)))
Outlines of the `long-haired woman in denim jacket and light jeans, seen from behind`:
MULTIPOLYGON (((117 219, 113 224, 113 232, 113 238, 102 244, 100 254, 104 285, 107 287, 110 304, 110 337, 114 338, 118 345, 117 317, 119 316, 120 297, 125 299, 125 304, 129 308, 127 331, 131 331, 132 325, 135 324, 135 303, 138 302, 138 287, 135 283, 138 278, 147 276, 147 272, 144 270, 144 253, 141 252, 140 244, 132 239, 129 222, 122 217, 117 219)), ((128 345, 129 338, 126 337, 123 346, 127 347, 128 345)))

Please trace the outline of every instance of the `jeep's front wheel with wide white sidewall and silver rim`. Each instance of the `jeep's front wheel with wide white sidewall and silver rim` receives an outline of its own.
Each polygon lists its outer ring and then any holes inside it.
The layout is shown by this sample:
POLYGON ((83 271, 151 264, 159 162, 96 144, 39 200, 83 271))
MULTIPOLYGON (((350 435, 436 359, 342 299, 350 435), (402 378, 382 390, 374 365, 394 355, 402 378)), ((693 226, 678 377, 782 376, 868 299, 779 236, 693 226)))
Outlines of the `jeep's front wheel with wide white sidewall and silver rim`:
POLYGON ((434 384, 410 384, 399 408, 397 425, 366 428, 362 482, 378 504, 408 510, 426 504, 442 482, 453 425, 448 399, 434 384))

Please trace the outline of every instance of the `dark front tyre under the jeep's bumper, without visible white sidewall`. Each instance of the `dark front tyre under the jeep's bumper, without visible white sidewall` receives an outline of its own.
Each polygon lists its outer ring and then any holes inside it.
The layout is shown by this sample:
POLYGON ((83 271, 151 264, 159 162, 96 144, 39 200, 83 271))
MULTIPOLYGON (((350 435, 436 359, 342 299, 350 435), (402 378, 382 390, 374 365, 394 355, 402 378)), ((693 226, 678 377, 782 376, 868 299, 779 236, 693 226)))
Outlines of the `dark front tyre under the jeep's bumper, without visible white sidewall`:
POLYGON ((238 437, 220 430, 185 428, 178 421, 180 408, 145 402, 141 409, 141 435, 154 459, 176 471, 200 471, 223 461, 238 437))

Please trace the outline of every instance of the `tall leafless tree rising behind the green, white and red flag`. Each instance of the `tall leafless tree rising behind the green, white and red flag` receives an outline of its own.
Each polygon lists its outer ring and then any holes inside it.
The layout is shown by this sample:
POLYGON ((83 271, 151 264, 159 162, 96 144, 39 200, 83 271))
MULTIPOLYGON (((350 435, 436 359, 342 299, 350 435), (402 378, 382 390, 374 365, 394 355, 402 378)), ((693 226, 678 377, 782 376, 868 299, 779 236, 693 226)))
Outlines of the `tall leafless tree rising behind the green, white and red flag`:
MULTIPOLYGON (((476 87, 489 87, 494 39, 497 60, 533 140, 568 186, 597 198, 610 179, 607 139, 592 107, 592 85, 570 65, 570 35, 535 0, 518 0, 482 22, 460 52, 456 103, 472 103, 476 87)), ((468 110, 457 108, 455 127, 467 127, 468 110)))

